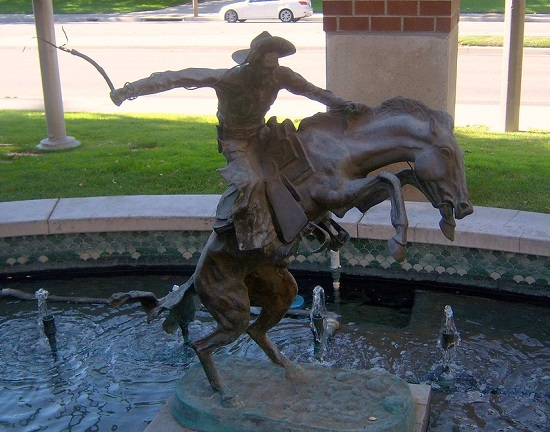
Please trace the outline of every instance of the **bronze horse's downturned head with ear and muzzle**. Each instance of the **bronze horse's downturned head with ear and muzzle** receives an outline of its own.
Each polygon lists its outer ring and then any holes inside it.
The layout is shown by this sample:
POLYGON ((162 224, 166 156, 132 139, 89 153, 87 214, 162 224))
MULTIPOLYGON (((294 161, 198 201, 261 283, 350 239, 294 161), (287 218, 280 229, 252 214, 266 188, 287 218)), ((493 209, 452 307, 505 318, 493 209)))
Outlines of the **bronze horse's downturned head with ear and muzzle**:
POLYGON ((468 197, 464 153, 454 137, 452 126, 430 121, 431 145, 417 153, 414 172, 418 188, 439 209, 439 227, 449 240, 454 240, 454 218, 473 213, 468 197))

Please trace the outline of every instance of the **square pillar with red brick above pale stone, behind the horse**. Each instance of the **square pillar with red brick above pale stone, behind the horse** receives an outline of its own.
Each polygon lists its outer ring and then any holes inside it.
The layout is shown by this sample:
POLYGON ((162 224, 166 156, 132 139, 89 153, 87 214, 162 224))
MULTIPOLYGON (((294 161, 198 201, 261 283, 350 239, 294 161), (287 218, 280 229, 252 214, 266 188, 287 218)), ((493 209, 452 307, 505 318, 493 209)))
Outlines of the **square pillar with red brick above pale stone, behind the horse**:
MULTIPOLYGON (((460 0, 324 0, 327 88, 371 106, 404 96, 454 116, 459 14, 460 0)), ((425 200, 414 188, 405 197, 425 200)))

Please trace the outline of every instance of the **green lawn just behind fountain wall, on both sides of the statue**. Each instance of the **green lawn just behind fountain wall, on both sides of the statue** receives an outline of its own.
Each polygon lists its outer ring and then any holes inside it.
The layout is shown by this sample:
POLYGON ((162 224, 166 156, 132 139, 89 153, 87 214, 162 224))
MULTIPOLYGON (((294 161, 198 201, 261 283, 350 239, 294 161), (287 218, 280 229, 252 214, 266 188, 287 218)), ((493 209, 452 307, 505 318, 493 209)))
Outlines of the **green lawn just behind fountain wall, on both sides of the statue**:
MULTIPOLYGON (((214 117, 66 114, 72 150, 36 149, 41 112, 0 111, 0 201, 221 193, 214 117)), ((457 128, 474 205, 550 213, 550 132, 457 128)))

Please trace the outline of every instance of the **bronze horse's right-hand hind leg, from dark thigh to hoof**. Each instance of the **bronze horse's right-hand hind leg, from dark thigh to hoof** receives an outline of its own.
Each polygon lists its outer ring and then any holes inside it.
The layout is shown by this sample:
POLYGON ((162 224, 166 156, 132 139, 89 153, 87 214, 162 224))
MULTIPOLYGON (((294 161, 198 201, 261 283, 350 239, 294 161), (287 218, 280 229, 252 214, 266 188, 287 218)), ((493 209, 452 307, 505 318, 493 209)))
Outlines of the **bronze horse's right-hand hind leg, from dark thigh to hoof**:
POLYGON ((267 332, 285 316, 298 293, 298 285, 290 272, 281 267, 261 267, 247 276, 245 283, 250 299, 262 306, 256 320, 246 330, 269 359, 285 368, 286 377, 293 381, 307 379, 302 369, 291 362, 267 336, 267 332))

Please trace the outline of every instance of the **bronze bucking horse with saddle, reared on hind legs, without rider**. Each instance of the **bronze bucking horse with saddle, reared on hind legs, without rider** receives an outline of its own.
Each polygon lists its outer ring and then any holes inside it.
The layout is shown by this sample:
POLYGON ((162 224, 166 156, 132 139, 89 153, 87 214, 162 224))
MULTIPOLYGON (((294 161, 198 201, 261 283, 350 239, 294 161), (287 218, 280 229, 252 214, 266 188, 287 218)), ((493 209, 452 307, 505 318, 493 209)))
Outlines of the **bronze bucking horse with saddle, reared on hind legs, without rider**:
MULTIPOLYGON (((278 123, 272 118, 268 122, 272 139, 269 148, 260 150, 265 181, 273 184, 274 190, 284 190, 279 198, 270 197, 271 201, 288 196, 292 198, 289 208, 297 208, 286 220, 274 221, 279 234, 275 242, 242 251, 234 230, 213 231, 194 274, 179 289, 161 299, 143 292, 117 293, 111 299, 112 304, 141 301, 150 319, 169 309, 163 327, 174 331, 179 326, 184 335, 200 299, 218 325, 210 335, 190 345, 225 407, 238 407, 242 402, 224 384, 213 351, 244 332, 272 362, 285 368, 287 378, 304 379, 301 368, 277 349, 267 331, 283 318, 298 292, 285 260, 295 246, 312 234, 330 249, 338 249, 347 240, 331 222, 331 213, 341 217, 354 207, 366 212, 389 198, 395 235, 388 247, 393 257, 402 261, 408 227, 403 185, 418 188, 439 210, 439 226, 450 240, 454 239, 455 218, 473 212, 464 154, 453 135, 450 115, 402 97, 377 107, 358 106, 361 108, 352 113, 318 113, 304 119, 297 130, 289 120, 278 123), (372 174, 396 162, 406 162, 410 168, 396 174, 372 174), (252 323, 251 304, 261 306, 252 323)), ((266 187, 268 194, 269 190, 266 187)), ((274 219, 280 205, 273 203, 274 219)))

